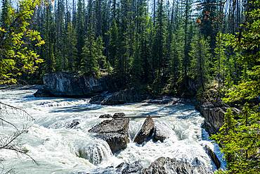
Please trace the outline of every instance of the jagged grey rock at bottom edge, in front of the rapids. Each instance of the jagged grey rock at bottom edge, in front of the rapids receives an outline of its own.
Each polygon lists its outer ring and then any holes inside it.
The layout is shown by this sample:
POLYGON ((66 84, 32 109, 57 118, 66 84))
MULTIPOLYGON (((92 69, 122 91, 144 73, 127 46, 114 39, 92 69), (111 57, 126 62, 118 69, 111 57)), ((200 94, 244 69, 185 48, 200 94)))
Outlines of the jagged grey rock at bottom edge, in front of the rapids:
POLYGON ((178 162, 176 159, 160 157, 149 168, 143 168, 144 174, 213 174, 203 166, 193 167, 187 162, 178 162))

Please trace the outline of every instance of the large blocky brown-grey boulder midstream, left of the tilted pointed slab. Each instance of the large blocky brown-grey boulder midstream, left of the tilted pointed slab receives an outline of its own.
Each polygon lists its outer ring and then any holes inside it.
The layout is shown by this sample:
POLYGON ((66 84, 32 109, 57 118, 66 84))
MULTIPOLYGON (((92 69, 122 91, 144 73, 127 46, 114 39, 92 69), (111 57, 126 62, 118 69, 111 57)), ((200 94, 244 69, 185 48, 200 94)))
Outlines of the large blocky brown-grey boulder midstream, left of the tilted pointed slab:
POLYGON ((108 142, 113 154, 126 149, 128 142, 129 118, 117 118, 104 120, 102 123, 94 126, 89 132, 98 133, 98 138, 108 142))

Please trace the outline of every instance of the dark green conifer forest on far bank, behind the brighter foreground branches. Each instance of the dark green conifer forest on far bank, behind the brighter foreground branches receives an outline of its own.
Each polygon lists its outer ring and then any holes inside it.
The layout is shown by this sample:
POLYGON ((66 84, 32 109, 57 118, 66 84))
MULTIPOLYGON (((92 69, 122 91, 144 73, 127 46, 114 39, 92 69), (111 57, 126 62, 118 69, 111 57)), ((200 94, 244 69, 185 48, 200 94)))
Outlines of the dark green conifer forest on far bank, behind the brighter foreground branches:
MULTIPOLYGON (((11 20, 8 6, 16 4, 2 1, 2 28, 11 20)), ((179 83, 190 79, 197 90, 212 84, 223 94, 252 68, 235 63, 245 51, 223 38, 240 32, 246 11, 247 1, 49 1, 27 21, 45 44, 25 40, 43 62, 20 83, 39 84, 44 74, 65 71, 109 74, 122 89, 169 94, 180 94, 179 83)))

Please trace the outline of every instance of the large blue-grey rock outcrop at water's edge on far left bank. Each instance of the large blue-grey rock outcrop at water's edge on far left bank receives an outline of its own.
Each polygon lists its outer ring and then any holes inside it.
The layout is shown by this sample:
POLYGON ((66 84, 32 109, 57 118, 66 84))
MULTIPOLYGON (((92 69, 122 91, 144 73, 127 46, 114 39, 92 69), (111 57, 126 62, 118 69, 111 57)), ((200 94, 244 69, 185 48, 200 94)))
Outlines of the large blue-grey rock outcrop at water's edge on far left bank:
POLYGON ((82 76, 78 73, 58 72, 43 77, 44 87, 38 89, 35 97, 89 97, 104 92, 114 85, 105 77, 82 76))

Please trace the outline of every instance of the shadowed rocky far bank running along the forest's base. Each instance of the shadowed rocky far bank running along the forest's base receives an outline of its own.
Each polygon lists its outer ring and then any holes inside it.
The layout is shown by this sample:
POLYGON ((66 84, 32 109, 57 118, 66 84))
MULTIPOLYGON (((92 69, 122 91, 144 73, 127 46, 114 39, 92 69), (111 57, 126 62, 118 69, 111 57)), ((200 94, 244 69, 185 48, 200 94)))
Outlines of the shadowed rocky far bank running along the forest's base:
MULTIPOLYGON (((211 95, 214 94, 211 91, 211 95)), ((224 115, 229 107, 217 97, 197 100, 181 97, 144 94, 134 89, 117 91, 117 85, 108 77, 80 76, 78 73, 53 73, 44 75, 44 86, 34 94, 35 97, 91 97, 91 104, 116 105, 132 102, 149 104, 188 104, 193 105, 204 116, 204 128, 209 134, 219 132, 223 125, 224 115)), ((231 108, 234 114, 238 108, 231 108)))

